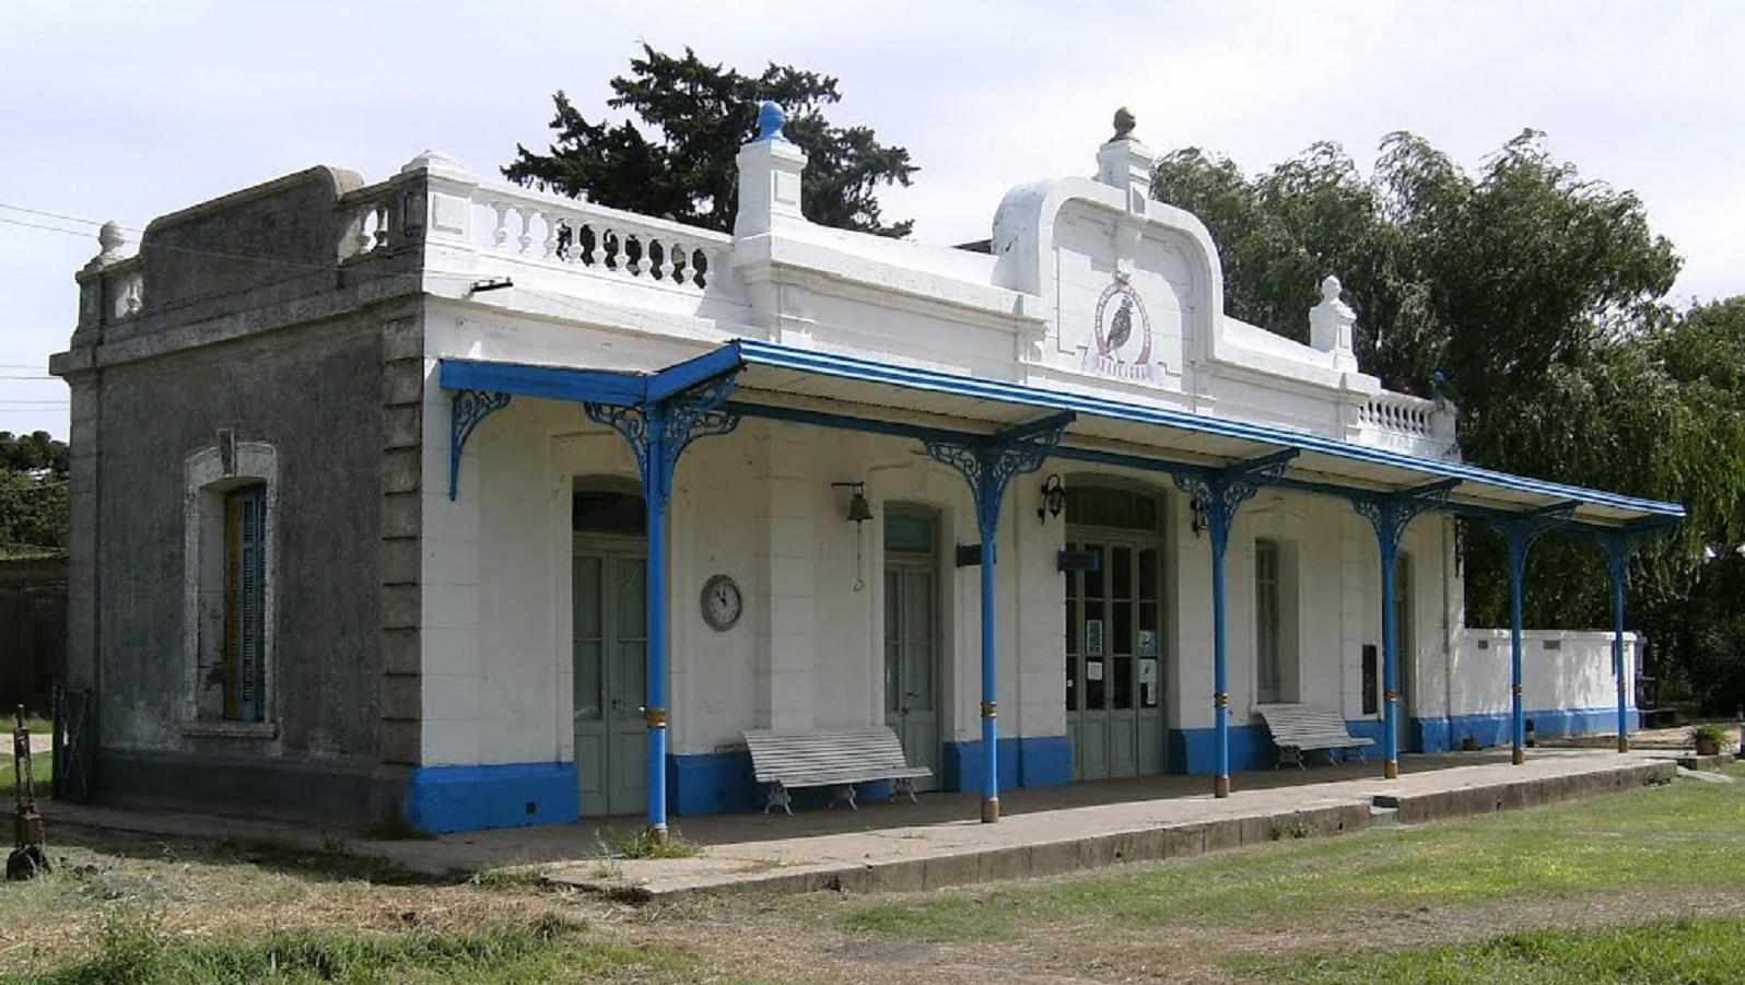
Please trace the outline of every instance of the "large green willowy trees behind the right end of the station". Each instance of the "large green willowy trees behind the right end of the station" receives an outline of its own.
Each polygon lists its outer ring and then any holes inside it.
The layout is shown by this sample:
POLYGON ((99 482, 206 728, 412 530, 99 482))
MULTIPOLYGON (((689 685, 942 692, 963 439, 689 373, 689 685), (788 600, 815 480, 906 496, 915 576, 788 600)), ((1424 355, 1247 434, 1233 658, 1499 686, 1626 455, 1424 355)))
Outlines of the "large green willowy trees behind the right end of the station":
MULTIPOLYGON (((1333 143, 1255 176, 1187 148, 1159 162, 1153 192, 1211 228, 1235 317, 1307 340, 1317 282, 1337 274, 1359 364, 1426 396, 1445 373, 1466 460, 1686 504, 1689 521, 1633 565, 1632 603, 1696 680, 1738 598, 1708 594, 1736 577, 1705 558, 1745 539, 1745 298, 1673 310, 1679 258, 1633 194, 1536 131, 1476 173, 1408 132, 1370 174, 1333 143)), ((1469 622, 1506 624, 1501 542, 1473 525, 1462 540, 1469 622)), ((1591 539, 1543 539, 1527 589, 1534 624, 1611 624, 1591 539)), ((1717 704, 1726 687, 1710 687, 1717 704)))

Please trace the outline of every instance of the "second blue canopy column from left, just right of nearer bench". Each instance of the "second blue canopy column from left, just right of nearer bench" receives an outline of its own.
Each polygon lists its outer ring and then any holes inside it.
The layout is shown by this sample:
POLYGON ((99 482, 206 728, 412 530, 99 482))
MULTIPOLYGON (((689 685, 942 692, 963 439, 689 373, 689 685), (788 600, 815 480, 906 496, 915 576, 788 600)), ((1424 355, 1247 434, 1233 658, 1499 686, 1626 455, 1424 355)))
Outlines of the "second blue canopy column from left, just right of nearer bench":
POLYGON ((995 581, 995 540, 1000 535, 1000 507, 1012 478, 1035 472, 1059 441, 1075 415, 1061 413, 1003 434, 948 441, 923 441, 927 455, 951 465, 963 476, 975 499, 975 526, 981 532, 981 603, 982 603, 982 811, 984 825, 1000 819, 1000 661, 995 581))

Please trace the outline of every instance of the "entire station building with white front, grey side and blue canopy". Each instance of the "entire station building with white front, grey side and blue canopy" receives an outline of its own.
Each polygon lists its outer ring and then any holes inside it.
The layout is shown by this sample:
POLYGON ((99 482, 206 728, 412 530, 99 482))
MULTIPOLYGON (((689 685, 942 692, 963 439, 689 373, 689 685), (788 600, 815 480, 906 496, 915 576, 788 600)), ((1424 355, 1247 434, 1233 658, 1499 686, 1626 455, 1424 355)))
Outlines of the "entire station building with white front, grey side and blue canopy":
MULTIPOLYGON (((1459 462, 1452 406, 1359 366, 1337 272, 1307 345, 1227 316, 1216 244, 1150 197, 1131 132, 1087 148, 1092 176, 1009 192, 963 248, 806 221, 804 164, 778 129, 745 145, 731 232, 440 153, 194 206, 131 258, 106 230, 56 371, 86 436, 73 664, 124 682, 115 791, 435 830, 644 800, 654 821, 658 791, 677 814, 757 805, 745 730, 888 725, 937 786, 991 800, 991 776, 1272 765, 1265 703, 1380 751, 1391 694, 1406 751, 1502 744, 1511 647, 1464 626, 1454 513, 1600 533, 1680 513, 1459 462), (635 429, 682 403, 660 509, 635 429), (1009 485, 989 465, 972 488, 951 453, 972 446, 1014 455, 1009 485), (105 469, 174 481, 136 507, 105 469), (208 500, 243 479, 267 493, 269 645, 265 711, 232 722, 209 696, 232 589, 208 500), (1396 687, 1377 504, 1412 516, 1396 687), (180 577, 147 567, 178 549, 180 577)), ((1619 682, 1611 633, 1529 631, 1537 734, 1616 729, 1626 645, 1619 682)))

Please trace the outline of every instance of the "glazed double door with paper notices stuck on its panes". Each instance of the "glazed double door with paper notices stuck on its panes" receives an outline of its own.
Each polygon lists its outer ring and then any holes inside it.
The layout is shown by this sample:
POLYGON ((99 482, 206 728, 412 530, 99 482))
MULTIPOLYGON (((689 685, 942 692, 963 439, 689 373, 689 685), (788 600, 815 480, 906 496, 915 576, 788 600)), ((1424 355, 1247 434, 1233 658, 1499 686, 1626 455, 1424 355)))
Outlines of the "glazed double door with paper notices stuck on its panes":
POLYGON ((1162 551, 1068 530, 1091 563, 1066 574, 1066 732, 1073 779, 1164 771, 1162 551))

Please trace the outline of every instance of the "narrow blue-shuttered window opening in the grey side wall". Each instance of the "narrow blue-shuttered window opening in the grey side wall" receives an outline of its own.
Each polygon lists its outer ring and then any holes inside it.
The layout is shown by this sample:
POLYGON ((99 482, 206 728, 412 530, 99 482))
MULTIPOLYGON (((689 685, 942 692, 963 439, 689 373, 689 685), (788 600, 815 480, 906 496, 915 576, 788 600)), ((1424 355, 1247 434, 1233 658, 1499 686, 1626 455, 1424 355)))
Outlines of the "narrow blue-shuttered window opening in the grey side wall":
POLYGON ((263 483, 225 493, 223 525, 223 717, 265 718, 265 516, 263 483))

